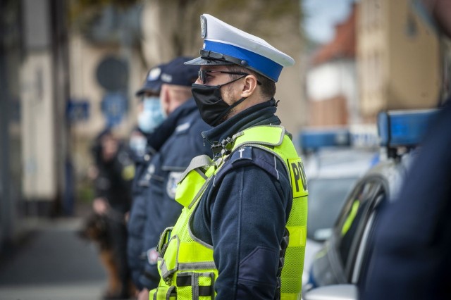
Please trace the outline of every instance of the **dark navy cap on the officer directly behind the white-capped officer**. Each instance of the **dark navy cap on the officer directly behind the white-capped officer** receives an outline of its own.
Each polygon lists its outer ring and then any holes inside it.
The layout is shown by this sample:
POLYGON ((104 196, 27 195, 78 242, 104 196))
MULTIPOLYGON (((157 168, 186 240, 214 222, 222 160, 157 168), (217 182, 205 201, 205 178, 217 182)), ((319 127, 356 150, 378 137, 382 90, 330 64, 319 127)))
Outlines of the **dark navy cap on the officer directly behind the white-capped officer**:
POLYGON ((190 59, 192 59, 192 57, 178 56, 166 63, 160 76, 161 83, 191 87, 197 80, 199 67, 197 65, 184 64, 185 61, 189 61, 190 59))

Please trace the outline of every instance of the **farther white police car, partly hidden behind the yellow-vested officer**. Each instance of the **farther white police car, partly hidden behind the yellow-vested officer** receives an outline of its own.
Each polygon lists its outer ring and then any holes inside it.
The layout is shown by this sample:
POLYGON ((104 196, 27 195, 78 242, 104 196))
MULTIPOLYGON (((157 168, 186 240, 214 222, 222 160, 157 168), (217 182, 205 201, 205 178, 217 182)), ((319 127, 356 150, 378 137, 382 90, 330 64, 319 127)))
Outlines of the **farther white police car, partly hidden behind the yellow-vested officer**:
MULTIPOLYGON (((368 137, 365 137, 369 140, 368 137)), ((313 129, 301 132, 304 169, 309 187, 309 217, 302 282, 307 283, 314 254, 330 237, 347 194, 378 158, 371 143, 362 146, 362 132, 347 128, 313 129), (354 147, 356 140, 359 148, 354 147)))

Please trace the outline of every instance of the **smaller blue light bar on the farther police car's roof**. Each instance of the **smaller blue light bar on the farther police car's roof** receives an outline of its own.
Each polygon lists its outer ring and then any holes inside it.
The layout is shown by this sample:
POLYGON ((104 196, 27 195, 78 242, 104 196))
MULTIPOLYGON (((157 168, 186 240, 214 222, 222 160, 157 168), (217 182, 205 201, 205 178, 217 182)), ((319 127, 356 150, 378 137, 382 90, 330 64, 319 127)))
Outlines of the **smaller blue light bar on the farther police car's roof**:
POLYGON ((327 146, 350 146, 351 134, 347 129, 303 130, 299 135, 304 151, 327 146))

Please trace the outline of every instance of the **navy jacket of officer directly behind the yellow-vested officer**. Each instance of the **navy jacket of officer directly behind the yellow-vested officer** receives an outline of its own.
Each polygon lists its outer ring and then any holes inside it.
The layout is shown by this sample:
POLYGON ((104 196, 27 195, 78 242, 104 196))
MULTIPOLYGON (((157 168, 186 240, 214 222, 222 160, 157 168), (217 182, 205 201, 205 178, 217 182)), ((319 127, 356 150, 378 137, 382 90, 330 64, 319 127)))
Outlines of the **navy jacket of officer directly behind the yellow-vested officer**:
POLYGON ((137 237, 133 241, 129 239, 129 252, 134 254, 132 258, 129 256, 129 262, 136 265, 138 272, 135 273, 135 281, 139 287, 152 288, 158 284, 156 265, 149 265, 145 254, 156 246, 164 228, 173 225, 180 215, 181 206, 174 201, 178 176, 194 156, 211 155, 210 147, 204 145, 201 135, 211 127, 200 118, 194 100, 190 99, 178 107, 168 119, 173 115, 176 116, 172 118, 173 133, 142 174, 140 185, 146 187, 140 196, 142 200, 136 199, 132 208, 132 213, 140 215, 140 218, 135 218, 129 225, 129 232, 134 231, 137 237), (144 267, 146 273, 143 272, 144 267))

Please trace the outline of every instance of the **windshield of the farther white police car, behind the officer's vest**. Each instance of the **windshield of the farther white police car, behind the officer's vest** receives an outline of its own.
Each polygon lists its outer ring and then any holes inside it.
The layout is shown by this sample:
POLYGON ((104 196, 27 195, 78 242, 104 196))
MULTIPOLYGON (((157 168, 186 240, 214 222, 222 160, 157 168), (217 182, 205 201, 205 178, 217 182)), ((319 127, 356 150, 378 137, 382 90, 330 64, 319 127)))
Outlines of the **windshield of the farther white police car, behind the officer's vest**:
POLYGON ((327 239, 357 177, 316 178, 309 181, 307 237, 327 239))

